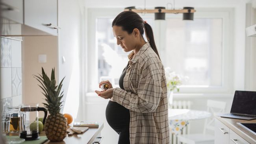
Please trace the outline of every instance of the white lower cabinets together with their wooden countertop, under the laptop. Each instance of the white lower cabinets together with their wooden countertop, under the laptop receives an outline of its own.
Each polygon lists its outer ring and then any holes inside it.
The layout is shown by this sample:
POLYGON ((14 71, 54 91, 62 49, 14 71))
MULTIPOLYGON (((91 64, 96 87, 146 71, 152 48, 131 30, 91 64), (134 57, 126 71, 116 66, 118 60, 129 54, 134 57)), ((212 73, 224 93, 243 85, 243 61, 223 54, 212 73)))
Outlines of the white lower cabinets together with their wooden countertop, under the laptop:
POLYGON ((239 120, 215 116, 215 144, 256 144, 256 135, 237 122, 255 123, 256 120, 239 120))

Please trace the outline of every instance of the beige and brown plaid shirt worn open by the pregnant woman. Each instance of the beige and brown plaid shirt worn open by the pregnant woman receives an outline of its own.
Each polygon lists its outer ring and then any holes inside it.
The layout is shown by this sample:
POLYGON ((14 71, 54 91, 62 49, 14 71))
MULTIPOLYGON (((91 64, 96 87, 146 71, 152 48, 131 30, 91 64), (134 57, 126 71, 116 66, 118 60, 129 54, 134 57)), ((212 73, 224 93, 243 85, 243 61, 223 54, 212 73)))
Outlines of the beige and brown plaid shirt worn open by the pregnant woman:
POLYGON ((130 144, 169 144, 164 67, 148 42, 128 57, 125 90, 115 88, 111 99, 130 110, 130 144))

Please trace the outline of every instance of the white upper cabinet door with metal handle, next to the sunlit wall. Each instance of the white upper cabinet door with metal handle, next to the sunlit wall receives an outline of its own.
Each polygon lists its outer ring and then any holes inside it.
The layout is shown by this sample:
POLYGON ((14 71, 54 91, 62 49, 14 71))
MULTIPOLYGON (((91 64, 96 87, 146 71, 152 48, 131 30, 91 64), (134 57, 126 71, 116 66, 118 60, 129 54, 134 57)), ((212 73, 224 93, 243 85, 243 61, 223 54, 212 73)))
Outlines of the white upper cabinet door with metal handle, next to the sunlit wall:
POLYGON ((58 35, 57 0, 24 0, 24 24, 58 35))

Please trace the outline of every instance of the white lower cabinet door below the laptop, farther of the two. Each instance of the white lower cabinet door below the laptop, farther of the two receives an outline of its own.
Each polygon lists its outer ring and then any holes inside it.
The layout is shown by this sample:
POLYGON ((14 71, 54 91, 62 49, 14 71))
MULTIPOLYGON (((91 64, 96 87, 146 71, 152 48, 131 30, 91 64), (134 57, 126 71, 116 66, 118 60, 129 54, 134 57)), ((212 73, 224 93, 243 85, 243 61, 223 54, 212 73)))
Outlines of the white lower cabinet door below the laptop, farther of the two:
POLYGON ((229 128, 215 118, 215 144, 229 143, 229 128))

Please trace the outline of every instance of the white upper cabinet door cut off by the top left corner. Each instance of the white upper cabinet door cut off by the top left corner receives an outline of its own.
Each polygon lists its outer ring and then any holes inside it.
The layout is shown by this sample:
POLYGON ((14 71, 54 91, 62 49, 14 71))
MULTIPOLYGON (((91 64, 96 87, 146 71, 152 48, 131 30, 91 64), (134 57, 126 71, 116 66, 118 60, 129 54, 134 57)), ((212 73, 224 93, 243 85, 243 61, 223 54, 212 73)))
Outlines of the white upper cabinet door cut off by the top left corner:
POLYGON ((23 24, 23 0, 2 0, 2 17, 23 24))

